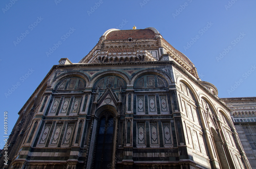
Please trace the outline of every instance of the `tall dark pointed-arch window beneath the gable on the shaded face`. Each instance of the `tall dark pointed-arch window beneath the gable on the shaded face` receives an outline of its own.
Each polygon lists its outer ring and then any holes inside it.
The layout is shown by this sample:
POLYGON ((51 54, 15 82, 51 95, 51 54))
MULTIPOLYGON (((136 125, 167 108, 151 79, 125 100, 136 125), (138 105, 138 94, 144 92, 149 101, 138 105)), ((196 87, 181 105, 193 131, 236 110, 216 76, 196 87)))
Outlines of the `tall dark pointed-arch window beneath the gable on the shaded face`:
POLYGON ((111 164, 111 168, 114 168, 119 123, 118 112, 112 105, 103 105, 95 111, 94 117, 86 168, 94 168, 95 165, 106 166, 107 164, 111 164), (108 144, 106 146, 111 149, 104 149, 105 144, 108 144))

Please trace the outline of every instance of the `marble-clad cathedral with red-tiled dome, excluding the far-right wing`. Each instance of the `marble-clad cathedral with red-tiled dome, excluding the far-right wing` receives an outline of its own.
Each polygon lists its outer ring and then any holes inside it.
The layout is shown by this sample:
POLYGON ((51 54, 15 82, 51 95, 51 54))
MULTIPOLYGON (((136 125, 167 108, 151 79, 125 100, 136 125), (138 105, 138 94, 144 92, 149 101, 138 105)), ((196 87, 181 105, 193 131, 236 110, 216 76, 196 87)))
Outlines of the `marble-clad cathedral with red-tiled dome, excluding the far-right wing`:
POLYGON ((69 59, 18 112, 0 168, 251 169, 217 88, 155 28, 107 30, 69 59))

